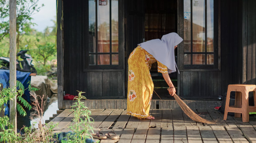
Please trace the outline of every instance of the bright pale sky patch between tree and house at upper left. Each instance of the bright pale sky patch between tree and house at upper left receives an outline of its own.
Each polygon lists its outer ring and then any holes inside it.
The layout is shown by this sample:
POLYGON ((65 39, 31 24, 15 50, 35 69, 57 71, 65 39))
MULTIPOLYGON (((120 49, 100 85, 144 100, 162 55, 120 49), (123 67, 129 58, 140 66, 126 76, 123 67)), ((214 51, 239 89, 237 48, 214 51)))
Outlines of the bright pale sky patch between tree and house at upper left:
POLYGON ((49 26, 53 26, 54 23, 51 20, 56 19, 56 0, 39 0, 38 5, 44 4, 40 11, 32 15, 33 28, 37 31, 44 32, 44 29, 49 26))

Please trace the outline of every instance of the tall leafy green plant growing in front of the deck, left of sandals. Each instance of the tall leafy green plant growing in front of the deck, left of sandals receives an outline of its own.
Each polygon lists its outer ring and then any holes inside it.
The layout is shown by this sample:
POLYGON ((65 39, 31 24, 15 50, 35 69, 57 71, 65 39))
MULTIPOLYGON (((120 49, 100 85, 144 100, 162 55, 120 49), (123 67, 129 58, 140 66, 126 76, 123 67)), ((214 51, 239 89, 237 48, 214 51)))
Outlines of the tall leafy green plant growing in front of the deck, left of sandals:
POLYGON ((84 106, 82 100, 86 98, 82 96, 83 93, 84 92, 79 91, 78 96, 74 98, 74 100, 77 100, 72 106, 72 110, 74 111, 74 125, 69 126, 72 132, 68 134, 66 138, 67 141, 62 140, 62 143, 85 143, 87 138, 92 138, 90 133, 93 133, 91 124, 94 120, 90 117, 91 111, 84 106))

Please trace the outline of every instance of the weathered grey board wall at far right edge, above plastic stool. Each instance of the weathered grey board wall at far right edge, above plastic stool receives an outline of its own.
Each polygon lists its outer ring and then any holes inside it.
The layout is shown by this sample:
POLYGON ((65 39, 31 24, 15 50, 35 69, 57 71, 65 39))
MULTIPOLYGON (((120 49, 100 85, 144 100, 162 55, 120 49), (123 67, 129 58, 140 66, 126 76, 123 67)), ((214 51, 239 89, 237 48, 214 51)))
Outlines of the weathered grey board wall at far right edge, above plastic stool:
POLYGON ((243 84, 256 84, 256 0, 243 1, 243 84))

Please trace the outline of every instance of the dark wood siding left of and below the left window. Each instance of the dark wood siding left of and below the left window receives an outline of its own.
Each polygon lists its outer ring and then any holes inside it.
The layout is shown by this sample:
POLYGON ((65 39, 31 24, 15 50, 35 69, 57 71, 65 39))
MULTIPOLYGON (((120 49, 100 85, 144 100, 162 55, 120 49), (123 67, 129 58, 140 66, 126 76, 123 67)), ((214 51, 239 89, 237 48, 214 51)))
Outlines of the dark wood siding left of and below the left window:
MULTIPOLYGON (((77 91, 84 91, 87 99, 123 98, 124 69, 84 69, 88 45, 88 0, 66 0, 63 5, 65 94, 77 95, 77 91)), ((119 8, 122 5, 120 0, 119 8)), ((122 11, 119 16, 123 17, 122 11)), ((120 46, 124 44, 123 25, 119 25, 119 32, 119 50, 123 51, 124 46, 120 46)), ((124 67, 123 59, 121 62, 121 67, 124 67)))

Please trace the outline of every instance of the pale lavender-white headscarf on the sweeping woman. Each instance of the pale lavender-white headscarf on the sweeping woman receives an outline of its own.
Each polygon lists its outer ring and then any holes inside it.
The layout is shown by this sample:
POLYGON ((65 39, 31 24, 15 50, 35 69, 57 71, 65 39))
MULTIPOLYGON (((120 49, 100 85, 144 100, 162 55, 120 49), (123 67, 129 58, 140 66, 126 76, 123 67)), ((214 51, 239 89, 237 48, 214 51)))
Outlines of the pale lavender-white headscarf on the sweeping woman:
MULTIPOLYGON (((161 39, 152 39, 139 44, 149 54, 168 68, 168 73, 176 72, 174 46, 183 39, 175 32, 164 35, 161 39)), ((177 68, 178 69, 178 68, 177 68)))

